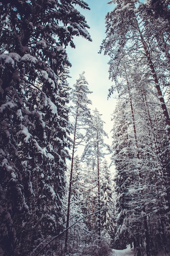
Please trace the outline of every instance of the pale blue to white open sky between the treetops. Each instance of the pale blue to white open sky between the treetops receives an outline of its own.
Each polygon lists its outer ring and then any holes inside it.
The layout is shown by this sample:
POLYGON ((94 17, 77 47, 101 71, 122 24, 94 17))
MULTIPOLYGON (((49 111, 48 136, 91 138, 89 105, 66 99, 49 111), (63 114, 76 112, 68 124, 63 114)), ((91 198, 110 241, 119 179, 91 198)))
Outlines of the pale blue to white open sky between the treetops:
MULTIPOLYGON (((113 10, 113 4, 107 4, 107 0, 85 0, 91 10, 79 9, 85 16, 87 24, 90 26, 88 29, 93 42, 90 42, 82 37, 74 37, 75 49, 67 47, 68 59, 72 64, 70 68, 70 76, 68 79, 69 85, 72 87, 79 78, 82 72, 88 82, 88 88, 93 93, 88 95, 93 105, 89 106, 91 110, 97 108, 102 114, 102 120, 105 122, 104 130, 111 138, 110 130, 113 127, 111 115, 115 108, 115 99, 108 98, 108 89, 113 82, 109 80, 109 57, 104 56, 104 53, 99 54, 100 45, 104 40, 106 34, 105 16, 108 11, 113 10)), ((78 9, 78 8, 77 8, 78 9)), ((107 141, 106 141, 107 142, 107 141)), ((108 143, 108 142, 107 142, 108 143)), ((111 144, 108 143, 108 144, 111 144)))

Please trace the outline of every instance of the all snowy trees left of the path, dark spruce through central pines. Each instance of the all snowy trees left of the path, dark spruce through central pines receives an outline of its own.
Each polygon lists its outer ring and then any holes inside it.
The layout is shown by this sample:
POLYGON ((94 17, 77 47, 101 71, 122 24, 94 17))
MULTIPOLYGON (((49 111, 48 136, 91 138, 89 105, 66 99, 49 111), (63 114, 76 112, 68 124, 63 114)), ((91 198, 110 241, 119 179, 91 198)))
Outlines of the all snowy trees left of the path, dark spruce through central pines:
POLYGON ((110 227, 113 189, 102 150, 106 133, 99 112, 87 107, 91 92, 84 75, 73 90, 67 82, 67 45, 75 47, 74 36, 91 41, 76 5, 89 9, 81 0, 0 1, 3 256, 108 250, 102 239, 110 227), (82 159, 80 144, 86 145, 82 159))

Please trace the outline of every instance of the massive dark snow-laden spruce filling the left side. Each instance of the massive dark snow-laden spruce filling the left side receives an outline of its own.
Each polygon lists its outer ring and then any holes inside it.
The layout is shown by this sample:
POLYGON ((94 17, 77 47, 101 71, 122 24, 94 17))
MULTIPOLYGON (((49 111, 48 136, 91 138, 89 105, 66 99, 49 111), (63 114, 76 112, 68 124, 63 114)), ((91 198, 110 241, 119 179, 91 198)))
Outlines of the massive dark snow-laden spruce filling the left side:
POLYGON ((68 157, 66 47, 91 40, 75 4, 0 2, 0 250, 29 255, 62 229, 68 157))

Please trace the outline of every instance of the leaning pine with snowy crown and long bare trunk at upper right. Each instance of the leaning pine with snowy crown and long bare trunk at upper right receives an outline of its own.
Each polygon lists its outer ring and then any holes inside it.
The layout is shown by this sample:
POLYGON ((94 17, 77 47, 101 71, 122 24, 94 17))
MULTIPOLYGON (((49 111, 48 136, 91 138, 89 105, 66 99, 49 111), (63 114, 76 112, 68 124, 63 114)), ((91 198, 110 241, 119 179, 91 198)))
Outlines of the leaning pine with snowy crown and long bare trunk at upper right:
POLYGON ((169 133, 170 118, 164 99, 165 83, 162 74, 165 54, 161 55, 159 45, 155 45, 156 42, 152 37, 146 37, 145 31, 150 30, 150 27, 145 27, 146 23, 144 23, 139 1, 114 2, 117 3, 117 6, 106 16, 107 36, 101 46, 101 50, 104 49, 104 53, 110 55, 110 78, 115 80, 117 75, 121 74, 125 56, 128 58, 125 63, 133 63, 138 60, 141 65, 147 65, 146 72, 150 73, 150 79, 157 90, 166 130, 169 133), (158 58, 160 61, 157 61, 158 58))

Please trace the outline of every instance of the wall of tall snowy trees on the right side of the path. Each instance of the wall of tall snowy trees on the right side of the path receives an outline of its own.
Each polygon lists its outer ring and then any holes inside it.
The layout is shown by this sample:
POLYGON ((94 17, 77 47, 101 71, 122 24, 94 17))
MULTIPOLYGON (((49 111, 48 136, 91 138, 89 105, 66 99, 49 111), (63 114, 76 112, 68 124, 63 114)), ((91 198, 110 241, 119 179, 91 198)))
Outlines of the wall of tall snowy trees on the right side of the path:
MULTIPOLYGON (((111 1, 112 2, 112 1, 111 1)), ((113 1, 101 51, 117 91, 113 247, 170 254, 169 1, 113 1)))

